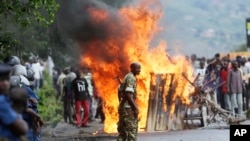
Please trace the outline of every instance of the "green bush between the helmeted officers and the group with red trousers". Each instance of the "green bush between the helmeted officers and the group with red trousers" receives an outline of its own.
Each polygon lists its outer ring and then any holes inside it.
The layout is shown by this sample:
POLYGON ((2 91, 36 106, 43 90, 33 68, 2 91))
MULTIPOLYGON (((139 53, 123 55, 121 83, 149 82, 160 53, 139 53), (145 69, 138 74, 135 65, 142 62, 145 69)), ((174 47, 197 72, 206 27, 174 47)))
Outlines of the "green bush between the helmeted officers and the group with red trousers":
POLYGON ((56 99, 56 90, 53 88, 52 78, 48 72, 44 74, 44 84, 39 90, 39 112, 45 122, 56 125, 62 119, 62 103, 56 99))

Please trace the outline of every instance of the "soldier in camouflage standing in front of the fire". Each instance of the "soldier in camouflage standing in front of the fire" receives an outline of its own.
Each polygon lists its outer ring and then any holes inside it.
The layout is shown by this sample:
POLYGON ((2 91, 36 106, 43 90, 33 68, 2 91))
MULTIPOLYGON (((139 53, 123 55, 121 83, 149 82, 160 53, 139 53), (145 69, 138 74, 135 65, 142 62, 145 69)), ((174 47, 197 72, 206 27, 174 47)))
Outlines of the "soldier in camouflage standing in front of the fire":
POLYGON ((123 93, 119 104, 118 113, 118 139, 117 141, 136 141, 138 129, 138 107, 135 103, 136 99, 136 78, 140 74, 141 65, 132 63, 129 72, 123 81, 123 93))

